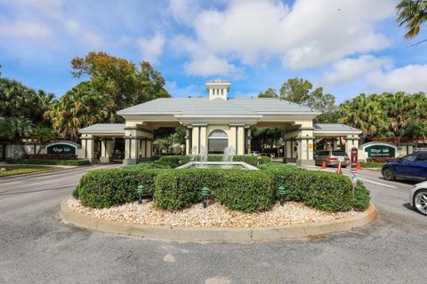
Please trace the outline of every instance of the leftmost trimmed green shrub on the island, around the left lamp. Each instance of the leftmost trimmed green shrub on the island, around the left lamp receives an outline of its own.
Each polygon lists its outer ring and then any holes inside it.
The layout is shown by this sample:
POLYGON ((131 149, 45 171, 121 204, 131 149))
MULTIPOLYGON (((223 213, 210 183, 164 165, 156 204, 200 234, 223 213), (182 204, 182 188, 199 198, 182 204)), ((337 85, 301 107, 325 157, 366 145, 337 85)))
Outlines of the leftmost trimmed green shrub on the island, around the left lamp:
POLYGON ((144 185, 146 198, 151 198, 157 174, 154 169, 111 169, 93 170, 85 174, 77 185, 77 193, 82 204, 93 208, 109 208, 132 202, 137 198, 136 188, 144 185))

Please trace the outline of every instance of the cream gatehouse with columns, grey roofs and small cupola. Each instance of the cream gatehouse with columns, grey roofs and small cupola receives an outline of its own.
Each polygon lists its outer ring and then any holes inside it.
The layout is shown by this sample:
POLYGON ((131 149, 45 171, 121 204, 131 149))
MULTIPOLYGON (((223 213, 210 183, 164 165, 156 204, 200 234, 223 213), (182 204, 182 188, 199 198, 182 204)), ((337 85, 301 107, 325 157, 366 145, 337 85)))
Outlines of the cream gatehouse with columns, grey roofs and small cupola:
POLYGON ((230 98, 231 83, 205 83, 208 97, 162 98, 125 108, 117 114, 124 124, 94 124, 79 130, 82 157, 93 160, 93 139, 101 138, 101 161, 112 160, 113 139, 125 138, 125 164, 152 157, 153 131, 161 127, 186 128, 186 154, 198 154, 205 146, 210 154, 233 146, 236 154, 251 153, 251 129, 285 130, 284 162, 314 165, 317 138, 343 141, 346 151, 359 147, 360 130, 343 124, 316 124, 315 109, 277 98, 230 98))

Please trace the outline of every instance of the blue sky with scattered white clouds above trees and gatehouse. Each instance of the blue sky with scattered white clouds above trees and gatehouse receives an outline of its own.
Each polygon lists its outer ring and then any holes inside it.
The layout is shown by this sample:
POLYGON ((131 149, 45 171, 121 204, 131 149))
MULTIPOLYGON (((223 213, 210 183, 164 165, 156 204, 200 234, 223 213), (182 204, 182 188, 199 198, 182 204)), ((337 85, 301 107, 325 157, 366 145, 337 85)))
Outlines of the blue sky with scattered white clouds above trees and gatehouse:
MULTIPOLYGON (((149 60, 173 97, 230 96, 309 80, 337 102, 360 92, 427 91, 427 43, 407 41, 394 0, 0 0, 0 69, 59 98, 85 78, 70 61, 106 51, 149 60)), ((421 34, 425 30, 422 29, 421 34)))

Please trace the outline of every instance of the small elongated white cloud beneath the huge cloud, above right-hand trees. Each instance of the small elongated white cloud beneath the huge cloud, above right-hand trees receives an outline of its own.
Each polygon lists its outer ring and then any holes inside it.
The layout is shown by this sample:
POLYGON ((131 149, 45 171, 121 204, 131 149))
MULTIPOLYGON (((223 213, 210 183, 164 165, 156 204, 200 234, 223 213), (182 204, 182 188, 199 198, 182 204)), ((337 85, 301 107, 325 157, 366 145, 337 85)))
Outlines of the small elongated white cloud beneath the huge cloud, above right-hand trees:
POLYGON ((367 75, 383 67, 391 67, 391 59, 375 58, 372 55, 361 55, 356 59, 342 59, 333 65, 332 72, 326 72, 321 80, 326 86, 349 83, 360 75, 367 75))

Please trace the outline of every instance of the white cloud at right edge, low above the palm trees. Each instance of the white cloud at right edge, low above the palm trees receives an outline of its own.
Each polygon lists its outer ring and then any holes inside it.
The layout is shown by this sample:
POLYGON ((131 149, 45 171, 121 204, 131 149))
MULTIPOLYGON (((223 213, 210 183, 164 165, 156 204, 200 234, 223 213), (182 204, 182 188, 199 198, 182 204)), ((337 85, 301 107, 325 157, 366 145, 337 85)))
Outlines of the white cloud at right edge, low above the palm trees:
POLYGON ((427 92, 427 65, 407 65, 367 75, 367 87, 373 91, 427 92))

